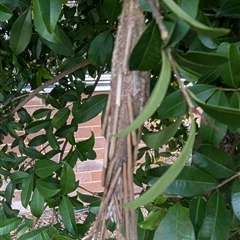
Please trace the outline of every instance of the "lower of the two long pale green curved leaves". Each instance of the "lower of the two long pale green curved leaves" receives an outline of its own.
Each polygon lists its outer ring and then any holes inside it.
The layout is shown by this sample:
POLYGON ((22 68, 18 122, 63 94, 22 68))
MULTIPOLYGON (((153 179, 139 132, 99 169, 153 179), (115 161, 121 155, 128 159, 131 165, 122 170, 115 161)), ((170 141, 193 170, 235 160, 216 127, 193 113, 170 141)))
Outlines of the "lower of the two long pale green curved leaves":
POLYGON ((167 187, 174 181, 174 179, 182 171, 186 161, 188 161, 189 155, 192 151, 192 147, 195 139, 196 126, 193 123, 188 140, 183 147, 182 152, 175 160, 175 162, 169 167, 169 169, 157 180, 157 182, 147 192, 143 193, 136 200, 124 204, 125 207, 139 207, 141 205, 151 202, 151 200, 157 198, 162 194, 167 187))

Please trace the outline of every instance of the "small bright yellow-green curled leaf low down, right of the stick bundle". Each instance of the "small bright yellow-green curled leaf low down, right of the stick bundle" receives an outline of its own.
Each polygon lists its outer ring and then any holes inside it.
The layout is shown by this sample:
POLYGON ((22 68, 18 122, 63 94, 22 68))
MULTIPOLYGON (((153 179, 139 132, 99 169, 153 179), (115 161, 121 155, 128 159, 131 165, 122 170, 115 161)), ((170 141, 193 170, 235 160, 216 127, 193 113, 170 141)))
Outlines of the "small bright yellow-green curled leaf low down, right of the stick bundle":
POLYGON ((143 229, 156 230, 164 216, 165 210, 163 209, 151 211, 147 218, 143 222, 138 223, 138 225, 143 229))

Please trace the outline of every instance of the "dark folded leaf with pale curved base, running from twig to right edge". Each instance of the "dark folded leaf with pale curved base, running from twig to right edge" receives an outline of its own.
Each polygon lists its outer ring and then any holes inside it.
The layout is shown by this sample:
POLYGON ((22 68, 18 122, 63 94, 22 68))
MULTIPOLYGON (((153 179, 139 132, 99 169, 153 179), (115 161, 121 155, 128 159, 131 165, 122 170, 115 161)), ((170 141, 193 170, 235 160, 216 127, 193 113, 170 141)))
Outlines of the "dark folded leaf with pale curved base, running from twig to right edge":
POLYGON ((191 98, 212 118, 233 128, 240 127, 240 110, 229 107, 216 106, 206 104, 199 100, 191 91, 189 91, 191 98), (224 118, 223 116, 228 116, 224 118))

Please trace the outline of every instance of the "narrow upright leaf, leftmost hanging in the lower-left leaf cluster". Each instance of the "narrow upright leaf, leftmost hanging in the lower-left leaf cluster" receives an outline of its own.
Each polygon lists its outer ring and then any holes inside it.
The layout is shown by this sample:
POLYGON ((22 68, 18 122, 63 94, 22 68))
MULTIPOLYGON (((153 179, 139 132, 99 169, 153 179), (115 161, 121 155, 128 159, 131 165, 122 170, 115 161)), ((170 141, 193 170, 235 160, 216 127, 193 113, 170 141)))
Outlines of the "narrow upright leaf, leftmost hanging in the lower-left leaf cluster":
POLYGON ((24 178, 22 183, 21 203, 23 207, 27 207, 33 191, 34 175, 30 174, 24 178))

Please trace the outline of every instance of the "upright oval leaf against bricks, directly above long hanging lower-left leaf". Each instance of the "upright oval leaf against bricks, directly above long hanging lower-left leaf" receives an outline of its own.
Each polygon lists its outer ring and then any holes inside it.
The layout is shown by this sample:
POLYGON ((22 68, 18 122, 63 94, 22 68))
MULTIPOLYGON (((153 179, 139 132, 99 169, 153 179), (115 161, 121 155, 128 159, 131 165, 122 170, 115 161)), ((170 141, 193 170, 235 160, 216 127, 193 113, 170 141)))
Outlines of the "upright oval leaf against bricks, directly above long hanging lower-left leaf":
POLYGON ((64 162, 60 181, 61 192, 63 195, 71 193, 76 188, 76 178, 72 167, 64 162))

